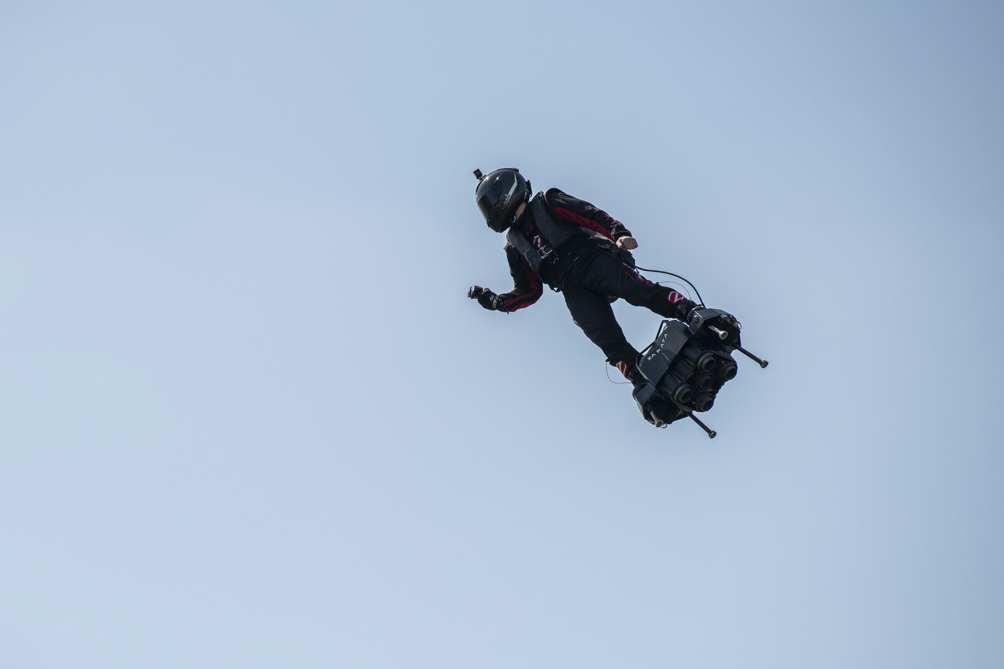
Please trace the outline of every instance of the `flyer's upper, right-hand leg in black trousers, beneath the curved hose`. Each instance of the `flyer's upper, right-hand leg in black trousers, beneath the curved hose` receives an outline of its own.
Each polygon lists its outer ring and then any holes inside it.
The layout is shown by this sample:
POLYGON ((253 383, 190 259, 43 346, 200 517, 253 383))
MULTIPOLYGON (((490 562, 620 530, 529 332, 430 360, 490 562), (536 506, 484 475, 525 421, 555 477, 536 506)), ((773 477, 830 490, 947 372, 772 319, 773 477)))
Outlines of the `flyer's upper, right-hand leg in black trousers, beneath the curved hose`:
POLYGON ((586 289, 622 298, 636 307, 646 307, 666 318, 682 318, 694 303, 683 295, 641 276, 608 253, 583 259, 576 279, 586 289))

